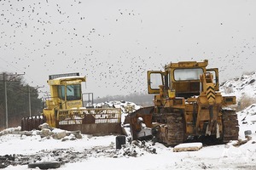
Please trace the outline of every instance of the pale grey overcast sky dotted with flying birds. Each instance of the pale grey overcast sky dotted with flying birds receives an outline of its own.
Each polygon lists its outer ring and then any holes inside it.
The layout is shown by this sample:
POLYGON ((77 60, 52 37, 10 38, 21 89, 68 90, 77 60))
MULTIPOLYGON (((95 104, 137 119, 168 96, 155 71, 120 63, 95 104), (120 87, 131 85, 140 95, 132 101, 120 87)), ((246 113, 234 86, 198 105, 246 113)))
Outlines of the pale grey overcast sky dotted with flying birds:
POLYGON ((79 72, 94 96, 147 92, 148 70, 209 59, 220 82, 255 71, 254 0, 0 0, 0 71, 49 91, 79 72))

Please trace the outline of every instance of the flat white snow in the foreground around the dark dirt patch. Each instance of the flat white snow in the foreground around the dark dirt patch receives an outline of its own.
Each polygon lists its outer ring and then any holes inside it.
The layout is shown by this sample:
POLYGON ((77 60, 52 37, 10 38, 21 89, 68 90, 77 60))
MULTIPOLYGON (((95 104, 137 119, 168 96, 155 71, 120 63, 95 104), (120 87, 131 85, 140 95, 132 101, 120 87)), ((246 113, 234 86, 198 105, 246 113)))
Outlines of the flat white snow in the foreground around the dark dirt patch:
MULTIPOLYGON (((146 150, 135 148, 138 156, 123 156, 124 149, 118 150, 117 156, 111 153, 115 150, 114 135, 104 137, 92 137, 83 135, 82 139, 67 140, 62 142, 57 139, 41 139, 40 136, 22 136, 16 134, 6 134, 1 137, 0 155, 39 155, 39 153, 52 153, 54 150, 65 150, 83 155, 84 150, 91 150, 98 147, 99 152, 92 152, 91 156, 79 159, 76 162, 69 162, 61 165, 59 169, 237 169, 247 167, 255 168, 256 159, 256 135, 247 144, 239 147, 230 144, 220 144, 206 146, 198 151, 173 152, 172 147, 156 143, 151 147, 156 150, 156 154, 146 150), (105 150, 105 151, 102 151, 105 150), (242 167, 241 167, 242 166, 242 167)), ((147 143, 148 144, 148 143, 147 143)), ((128 148, 130 148, 128 146, 128 148)), ((63 156, 64 153, 63 152, 63 156)), ((89 154, 87 154, 89 155, 89 154)), ((78 155, 75 155, 78 156, 78 155)), ((82 156, 78 156, 82 157, 82 156)), ((55 161, 55 157, 50 154, 44 155, 41 161, 55 161)), ((7 169, 27 169, 27 165, 9 166, 7 169)))

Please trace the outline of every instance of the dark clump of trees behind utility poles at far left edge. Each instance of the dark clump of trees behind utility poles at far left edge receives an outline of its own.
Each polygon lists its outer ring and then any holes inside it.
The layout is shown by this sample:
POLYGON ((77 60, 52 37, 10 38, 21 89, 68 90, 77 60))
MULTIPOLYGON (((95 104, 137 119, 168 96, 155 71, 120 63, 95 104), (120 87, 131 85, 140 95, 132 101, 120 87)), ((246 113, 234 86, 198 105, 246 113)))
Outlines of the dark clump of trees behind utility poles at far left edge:
POLYGON ((0 73, 0 130, 20 126, 22 117, 39 115, 43 107, 38 89, 26 84, 22 75, 0 73))

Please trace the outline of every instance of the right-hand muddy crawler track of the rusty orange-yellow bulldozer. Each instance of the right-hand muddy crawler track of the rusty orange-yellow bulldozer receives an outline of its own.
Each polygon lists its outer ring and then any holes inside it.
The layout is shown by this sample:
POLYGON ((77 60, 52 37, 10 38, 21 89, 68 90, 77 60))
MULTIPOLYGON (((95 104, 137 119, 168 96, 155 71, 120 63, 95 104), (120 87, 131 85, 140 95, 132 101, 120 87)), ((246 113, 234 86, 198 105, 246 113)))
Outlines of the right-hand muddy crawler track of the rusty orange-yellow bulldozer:
POLYGON ((223 142, 228 143, 230 140, 237 140, 239 125, 236 111, 224 110, 222 114, 224 127, 223 142))

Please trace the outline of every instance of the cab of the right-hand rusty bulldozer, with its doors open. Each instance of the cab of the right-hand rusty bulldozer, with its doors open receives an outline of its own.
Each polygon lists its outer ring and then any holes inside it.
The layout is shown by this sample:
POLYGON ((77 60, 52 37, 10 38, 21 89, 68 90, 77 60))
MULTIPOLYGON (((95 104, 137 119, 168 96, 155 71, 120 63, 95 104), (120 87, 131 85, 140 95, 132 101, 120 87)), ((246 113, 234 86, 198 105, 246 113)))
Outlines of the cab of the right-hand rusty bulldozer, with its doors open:
POLYGON ((212 73, 214 89, 218 91, 218 69, 207 69, 208 61, 183 61, 165 66, 165 71, 148 71, 148 94, 160 94, 175 91, 176 96, 185 99, 201 93, 200 75, 212 73))

